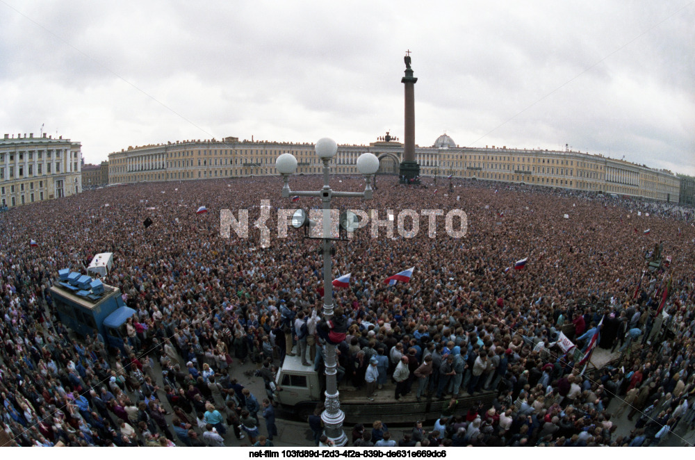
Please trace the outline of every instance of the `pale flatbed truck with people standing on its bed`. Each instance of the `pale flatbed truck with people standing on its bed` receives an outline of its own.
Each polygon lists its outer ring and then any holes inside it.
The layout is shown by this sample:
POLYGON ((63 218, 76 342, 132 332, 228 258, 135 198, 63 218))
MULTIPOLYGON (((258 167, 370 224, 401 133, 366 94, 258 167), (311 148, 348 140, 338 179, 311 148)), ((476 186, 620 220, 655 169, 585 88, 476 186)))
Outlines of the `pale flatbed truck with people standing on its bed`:
MULTIPOLYGON (((275 400, 288 412, 295 413, 297 418, 306 421, 317 406, 325 400, 325 377, 319 376, 313 370, 313 365, 302 365, 299 356, 286 356, 284 363, 277 371, 275 377, 275 400), (320 378, 321 377, 321 378, 320 378)), ((417 382, 413 384, 413 393, 402 396, 396 401, 394 398, 395 385, 389 381, 384 389, 377 390, 373 401, 367 400, 364 389, 357 390, 350 384, 343 384, 338 388, 341 400, 341 409, 345 413, 345 423, 368 423, 381 420, 385 423, 413 422, 414 420, 436 420, 446 409, 450 398, 439 401, 436 397, 422 398, 418 402, 415 398, 417 382)), ((464 396, 457 398, 459 404, 455 414, 466 413, 471 406, 482 403, 491 404, 496 397, 496 392, 484 391, 469 396, 462 391, 464 396)))

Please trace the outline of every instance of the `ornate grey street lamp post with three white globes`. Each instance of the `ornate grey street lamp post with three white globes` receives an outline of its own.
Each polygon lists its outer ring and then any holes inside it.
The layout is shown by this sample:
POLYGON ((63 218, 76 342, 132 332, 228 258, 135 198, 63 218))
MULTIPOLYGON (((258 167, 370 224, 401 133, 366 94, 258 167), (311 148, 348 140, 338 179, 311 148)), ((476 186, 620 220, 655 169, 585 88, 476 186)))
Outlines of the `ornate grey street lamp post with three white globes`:
MULTIPOLYGON (((290 190, 289 178, 297 170, 297 158, 292 154, 281 154, 275 161, 277 171, 282 174, 284 186, 281 196, 290 197, 290 194, 299 197, 320 197, 323 208, 323 233, 322 233, 322 252, 323 252, 323 315, 326 321, 333 317, 333 284, 332 284, 332 259, 331 259, 331 235, 327 234, 329 226, 325 223, 329 219, 331 210, 331 200, 333 197, 354 197, 372 199, 372 188, 370 179, 379 169, 379 160, 374 154, 361 154, 357 158, 357 170, 365 176, 365 188, 363 192, 335 192, 329 186, 331 159, 336 155, 338 145, 332 139, 322 138, 316 142, 316 155, 323 162, 323 188, 318 192, 297 192, 290 190)), ((336 346, 328 341, 324 345, 323 356, 326 367, 326 401, 325 411, 321 414, 321 420, 325 425, 326 436, 335 445, 347 444, 347 436, 343 432, 343 420, 345 413, 341 411, 341 403, 338 395, 338 382, 336 381, 336 346)))

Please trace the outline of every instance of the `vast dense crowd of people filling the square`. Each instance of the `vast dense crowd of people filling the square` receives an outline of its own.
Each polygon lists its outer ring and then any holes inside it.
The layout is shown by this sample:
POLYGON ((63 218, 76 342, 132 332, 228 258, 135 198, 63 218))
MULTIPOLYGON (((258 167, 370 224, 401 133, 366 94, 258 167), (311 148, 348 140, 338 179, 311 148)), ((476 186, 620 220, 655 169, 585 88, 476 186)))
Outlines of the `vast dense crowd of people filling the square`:
MULTIPOLYGON (((363 188, 356 177, 333 181, 341 190, 363 188)), ((468 228, 451 238, 439 217, 434 238, 421 220, 414 238, 384 228, 372 238, 367 228, 335 243, 334 277, 352 277, 334 293, 330 324, 321 315, 317 240, 299 231, 276 238, 273 213, 267 249, 252 226, 249 238, 222 237, 222 209, 247 209, 254 222, 261 199, 272 211, 320 205, 281 199, 275 177, 105 188, 3 213, 0 445, 201 446, 234 438, 272 445, 275 366, 300 354, 322 372, 322 344, 336 324, 345 329, 338 331, 340 384, 364 386, 366 401, 390 379, 395 400, 411 392, 418 400, 452 398, 431 431, 416 426, 396 441, 374 422, 371 430, 356 427, 354 445, 648 445, 676 425, 692 426, 692 211, 532 186, 453 184, 434 192, 380 177, 373 200, 334 200, 341 209, 374 208, 382 219, 389 209, 460 208, 468 228), (197 214, 199 206, 208 213, 197 214), (653 248, 671 261, 651 272, 653 248), (101 252, 115 254, 104 281, 137 312, 125 352, 108 350, 99 334, 67 330, 49 293, 59 269, 83 271, 101 252), (522 258, 525 268, 514 270, 522 258), (410 267, 408 283, 384 284, 410 267), (661 322, 664 298, 669 317, 661 322), (587 350, 597 330, 599 347, 619 347, 620 356, 582 372, 557 338, 562 332, 587 350), (265 395, 238 383, 247 361, 256 363, 265 395), (457 396, 479 391, 498 397, 465 416, 455 411, 457 396), (615 398, 637 419, 630 436, 615 434, 616 414, 607 410, 615 398)), ((291 185, 320 188, 309 176, 291 185)))

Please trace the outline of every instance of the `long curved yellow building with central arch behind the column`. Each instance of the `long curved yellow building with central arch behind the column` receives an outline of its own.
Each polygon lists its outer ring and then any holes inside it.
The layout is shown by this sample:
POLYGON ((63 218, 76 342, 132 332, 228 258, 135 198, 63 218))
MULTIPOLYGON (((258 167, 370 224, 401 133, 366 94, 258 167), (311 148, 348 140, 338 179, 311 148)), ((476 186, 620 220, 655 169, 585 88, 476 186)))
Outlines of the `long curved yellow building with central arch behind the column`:
MULTIPOLYGON (((128 147, 108 155, 109 183, 214 179, 275 173, 275 158, 297 157, 299 174, 318 174, 320 162, 311 143, 261 140, 184 140, 128 147)), ((380 174, 398 174, 403 144, 389 133, 369 145, 339 145, 334 172, 357 174, 364 152, 379 158, 380 174)), ((415 149, 423 176, 449 176, 485 181, 615 193, 678 202, 680 179, 666 170, 590 155, 579 151, 458 147, 443 134, 431 147, 415 149)))

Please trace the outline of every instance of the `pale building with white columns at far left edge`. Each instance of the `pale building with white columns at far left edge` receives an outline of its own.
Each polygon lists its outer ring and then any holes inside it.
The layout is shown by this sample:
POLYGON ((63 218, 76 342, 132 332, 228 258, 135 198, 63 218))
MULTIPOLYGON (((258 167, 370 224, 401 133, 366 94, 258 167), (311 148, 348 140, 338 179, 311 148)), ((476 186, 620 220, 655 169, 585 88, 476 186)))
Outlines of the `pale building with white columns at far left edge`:
POLYGON ((0 199, 14 207, 82 191, 79 142, 45 133, 6 134, 0 139, 0 199))

